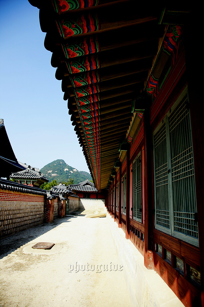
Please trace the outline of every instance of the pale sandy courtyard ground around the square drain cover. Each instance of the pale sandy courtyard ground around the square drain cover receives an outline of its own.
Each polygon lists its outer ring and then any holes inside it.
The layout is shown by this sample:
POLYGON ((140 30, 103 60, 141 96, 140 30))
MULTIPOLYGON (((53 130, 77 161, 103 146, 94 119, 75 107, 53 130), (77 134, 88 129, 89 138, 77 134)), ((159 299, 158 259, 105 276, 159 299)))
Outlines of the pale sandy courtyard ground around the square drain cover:
POLYGON ((66 216, 2 239, 0 251, 0 307, 132 306, 106 218, 66 216))

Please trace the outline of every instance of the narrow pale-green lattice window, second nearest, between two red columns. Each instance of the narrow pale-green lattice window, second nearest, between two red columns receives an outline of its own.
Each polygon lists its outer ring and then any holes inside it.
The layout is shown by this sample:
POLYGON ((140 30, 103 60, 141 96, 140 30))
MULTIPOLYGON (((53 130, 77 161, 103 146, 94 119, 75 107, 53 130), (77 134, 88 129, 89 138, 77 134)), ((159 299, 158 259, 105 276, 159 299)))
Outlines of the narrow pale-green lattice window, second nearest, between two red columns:
POLYGON ((141 153, 133 161, 133 219, 142 221, 141 153))

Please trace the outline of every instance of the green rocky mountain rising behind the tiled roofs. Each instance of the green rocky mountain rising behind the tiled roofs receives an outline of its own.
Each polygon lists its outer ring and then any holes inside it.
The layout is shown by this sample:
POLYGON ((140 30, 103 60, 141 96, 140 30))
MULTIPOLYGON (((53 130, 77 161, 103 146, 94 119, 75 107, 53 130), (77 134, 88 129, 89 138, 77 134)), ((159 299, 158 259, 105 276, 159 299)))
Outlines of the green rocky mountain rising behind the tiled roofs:
POLYGON ((91 175, 84 171, 78 171, 72 166, 69 166, 65 163, 64 160, 58 159, 52 161, 45 165, 41 170, 41 173, 49 179, 49 181, 57 180, 60 181, 68 181, 70 178, 74 180, 75 183, 79 183, 85 180, 92 180, 91 175))

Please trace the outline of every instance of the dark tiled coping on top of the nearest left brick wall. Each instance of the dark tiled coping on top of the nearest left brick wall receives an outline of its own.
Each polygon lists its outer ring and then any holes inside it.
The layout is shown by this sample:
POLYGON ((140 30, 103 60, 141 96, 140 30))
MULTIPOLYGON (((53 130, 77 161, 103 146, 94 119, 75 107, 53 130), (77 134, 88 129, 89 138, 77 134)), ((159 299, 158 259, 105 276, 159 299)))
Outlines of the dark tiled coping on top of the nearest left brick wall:
POLYGON ((0 178, 0 188, 7 191, 15 191, 26 194, 46 195, 46 191, 40 188, 30 187, 21 183, 5 180, 0 178))

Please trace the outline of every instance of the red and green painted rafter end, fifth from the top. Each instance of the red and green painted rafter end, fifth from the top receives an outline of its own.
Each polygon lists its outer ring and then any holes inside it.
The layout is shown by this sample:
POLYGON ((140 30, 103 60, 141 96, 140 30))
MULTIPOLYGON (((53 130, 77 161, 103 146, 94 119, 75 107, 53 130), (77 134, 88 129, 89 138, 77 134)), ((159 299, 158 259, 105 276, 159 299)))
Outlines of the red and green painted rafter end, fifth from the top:
POLYGON ((81 76, 70 76, 73 87, 93 84, 100 81, 97 70, 91 70, 81 76))

